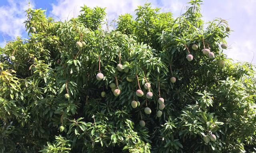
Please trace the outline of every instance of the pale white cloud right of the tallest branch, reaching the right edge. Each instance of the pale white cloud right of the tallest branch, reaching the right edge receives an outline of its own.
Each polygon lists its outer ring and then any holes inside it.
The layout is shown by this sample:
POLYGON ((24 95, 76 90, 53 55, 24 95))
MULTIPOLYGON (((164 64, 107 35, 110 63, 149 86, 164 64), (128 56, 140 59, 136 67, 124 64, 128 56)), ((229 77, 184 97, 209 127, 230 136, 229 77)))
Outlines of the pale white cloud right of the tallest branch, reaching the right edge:
POLYGON ((233 30, 226 39, 230 49, 225 50, 224 53, 238 61, 251 62, 254 57, 252 61, 254 64, 256 63, 256 51, 253 48, 256 46, 255 5, 255 0, 214 0, 206 1, 202 6, 204 20, 212 20, 215 17, 226 19, 233 30))

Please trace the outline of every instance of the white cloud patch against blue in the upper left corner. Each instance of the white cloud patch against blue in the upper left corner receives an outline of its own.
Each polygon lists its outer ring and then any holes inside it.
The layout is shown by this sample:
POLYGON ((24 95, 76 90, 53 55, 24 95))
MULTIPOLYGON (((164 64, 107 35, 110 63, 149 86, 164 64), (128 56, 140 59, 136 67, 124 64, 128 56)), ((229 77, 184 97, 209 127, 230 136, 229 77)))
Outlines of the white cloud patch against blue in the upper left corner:
MULTIPOLYGON (((30 5, 32 6, 32 4, 30 5)), ((28 2, 8 0, 8 5, 0 7, 0 33, 1 37, 9 37, 14 39, 22 36, 24 32, 23 22, 26 20, 25 10, 28 8, 28 2)), ((0 42, 4 46, 4 42, 0 42)))

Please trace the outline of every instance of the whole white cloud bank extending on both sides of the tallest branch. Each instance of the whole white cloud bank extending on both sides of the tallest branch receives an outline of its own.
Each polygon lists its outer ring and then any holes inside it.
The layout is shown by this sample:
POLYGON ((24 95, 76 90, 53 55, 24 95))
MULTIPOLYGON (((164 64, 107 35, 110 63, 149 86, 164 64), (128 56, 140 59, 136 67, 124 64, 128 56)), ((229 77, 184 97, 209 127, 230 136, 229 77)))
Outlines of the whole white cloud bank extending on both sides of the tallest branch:
MULTIPOLYGON (((52 4, 52 15, 58 16, 62 20, 78 16, 80 6, 86 4, 89 7, 106 7, 107 18, 109 21, 118 18, 118 15, 124 13, 134 14, 138 5, 143 5, 146 0, 57 0, 57 4, 52 4), (75 10, 75 11, 74 11, 75 10), (75 12, 75 14, 74 14, 75 12)), ((174 16, 179 16, 182 10, 188 6, 187 0, 147 0, 153 7, 162 8, 161 12, 172 12, 174 16), (183 8, 182 8, 183 7, 183 8)), ((251 62, 253 57, 254 41, 255 0, 214 0, 206 1, 202 5, 202 14, 204 20, 213 20, 216 17, 228 19, 229 25, 234 32, 226 40, 230 48, 224 53, 230 58, 240 61, 251 62), (252 20, 254 19, 254 20, 252 20)), ((254 52, 256 55, 256 52, 254 52)), ((256 58, 252 63, 256 63, 256 58)))

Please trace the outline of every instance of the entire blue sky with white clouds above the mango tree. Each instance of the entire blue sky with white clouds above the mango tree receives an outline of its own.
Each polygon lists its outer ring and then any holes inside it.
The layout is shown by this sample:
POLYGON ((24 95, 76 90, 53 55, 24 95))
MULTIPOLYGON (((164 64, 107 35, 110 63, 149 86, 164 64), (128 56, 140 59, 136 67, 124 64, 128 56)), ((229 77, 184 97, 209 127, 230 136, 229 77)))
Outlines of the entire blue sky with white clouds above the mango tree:
MULTIPOLYGON (((174 16, 179 16, 180 11, 189 0, 147 0, 152 6, 162 8, 162 12, 170 11, 174 16)), ((28 8, 46 9, 47 16, 56 20, 66 20, 67 17, 78 16, 80 6, 106 7, 107 18, 113 20, 118 15, 131 13, 138 5, 143 5, 146 0, 0 0, 0 46, 4 47, 5 41, 13 40, 16 36, 26 37, 23 22, 26 20, 24 11, 28 8)), ((230 46, 224 53, 228 57, 239 61, 256 63, 256 0, 204 0, 202 5, 203 19, 207 22, 216 17, 228 21, 233 32, 227 40, 230 46), (255 55, 254 55, 255 54, 255 55)), ((183 9, 182 9, 183 8, 183 9)))

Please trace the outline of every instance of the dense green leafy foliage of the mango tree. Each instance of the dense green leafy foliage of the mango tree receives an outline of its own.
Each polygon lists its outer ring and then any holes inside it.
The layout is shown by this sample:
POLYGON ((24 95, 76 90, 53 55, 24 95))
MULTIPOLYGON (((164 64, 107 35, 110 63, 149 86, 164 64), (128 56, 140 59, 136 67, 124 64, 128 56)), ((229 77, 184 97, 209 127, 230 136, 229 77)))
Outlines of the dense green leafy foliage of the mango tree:
POLYGON ((178 18, 145 4, 109 26, 104 8, 64 22, 28 9, 28 39, 0 48, 0 152, 255 151, 254 67, 222 53, 228 24, 204 23, 201 3, 178 18))

